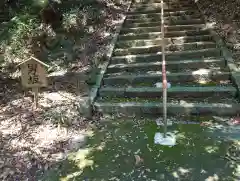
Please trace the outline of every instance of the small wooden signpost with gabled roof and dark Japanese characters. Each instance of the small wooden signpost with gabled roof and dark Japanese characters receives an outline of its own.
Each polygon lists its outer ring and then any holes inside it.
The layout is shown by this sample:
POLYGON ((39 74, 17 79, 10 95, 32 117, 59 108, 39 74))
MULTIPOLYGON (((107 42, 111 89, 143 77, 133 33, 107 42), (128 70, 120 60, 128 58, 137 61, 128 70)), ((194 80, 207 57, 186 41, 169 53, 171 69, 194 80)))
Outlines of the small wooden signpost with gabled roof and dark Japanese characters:
POLYGON ((21 68, 22 85, 26 88, 32 88, 34 93, 34 107, 38 107, 38 90, 40 87, 47 86, 47 71, 49 66, 40 60, 30 57, 18 64, 21 68))

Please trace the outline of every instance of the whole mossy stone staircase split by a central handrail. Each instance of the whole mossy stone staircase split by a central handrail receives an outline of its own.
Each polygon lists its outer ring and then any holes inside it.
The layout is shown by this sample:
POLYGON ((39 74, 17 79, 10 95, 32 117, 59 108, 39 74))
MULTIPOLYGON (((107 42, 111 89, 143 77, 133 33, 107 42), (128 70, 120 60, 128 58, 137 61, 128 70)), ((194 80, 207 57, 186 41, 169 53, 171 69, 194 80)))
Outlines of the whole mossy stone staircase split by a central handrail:
MULTIPOLYGON (((193 1, 165 6, 168 115, 240 113, 237 87, 226 60, 193 1)), ((132 3, 103 77, 96 111, 162 114, 161 4, 132 3)))

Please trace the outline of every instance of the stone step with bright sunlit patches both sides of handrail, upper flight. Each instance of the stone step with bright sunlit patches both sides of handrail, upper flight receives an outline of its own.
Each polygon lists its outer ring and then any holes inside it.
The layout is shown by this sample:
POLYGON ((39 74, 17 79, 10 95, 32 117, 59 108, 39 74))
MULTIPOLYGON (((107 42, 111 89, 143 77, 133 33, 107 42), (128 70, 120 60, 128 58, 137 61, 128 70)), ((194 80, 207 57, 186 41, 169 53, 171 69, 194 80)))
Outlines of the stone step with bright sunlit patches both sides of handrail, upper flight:
MULTIPOLYGON (((213 41, 213 37, 211 35, 201 35, 201 36, 182 36, 182 37, 171 37, 165 38, 165 44, 184 44, 184 43, 192 43, 199 41, 213 41)), ((130 48, 130 47, 138 47, 138 46, 154 46, 162 44, 161 38, 156 39, 143 39, 143 40, 121 40, 117 41, 115 44, 115 48, 130 48)))

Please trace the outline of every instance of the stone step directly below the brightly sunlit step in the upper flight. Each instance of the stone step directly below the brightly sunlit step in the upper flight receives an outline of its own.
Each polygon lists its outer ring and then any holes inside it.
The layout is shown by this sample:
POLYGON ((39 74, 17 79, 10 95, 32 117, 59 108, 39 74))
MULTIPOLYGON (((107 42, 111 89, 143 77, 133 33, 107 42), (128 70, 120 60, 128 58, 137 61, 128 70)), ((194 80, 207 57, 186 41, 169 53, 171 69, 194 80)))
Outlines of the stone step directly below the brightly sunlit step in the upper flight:
MULTIPOLYGON (((113 56, 131 55, 131 54, 145 54, 156 53, 161 51, 161 45, 155 46, 139 46, 131 48, 116 48, 113 52, 113 56)), ((216 48, 214 42, 195 42, 184 44, 167 44, 165 45, 165 51, 186 51, 195 49, 216 48)))

